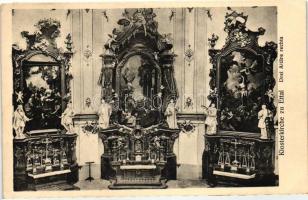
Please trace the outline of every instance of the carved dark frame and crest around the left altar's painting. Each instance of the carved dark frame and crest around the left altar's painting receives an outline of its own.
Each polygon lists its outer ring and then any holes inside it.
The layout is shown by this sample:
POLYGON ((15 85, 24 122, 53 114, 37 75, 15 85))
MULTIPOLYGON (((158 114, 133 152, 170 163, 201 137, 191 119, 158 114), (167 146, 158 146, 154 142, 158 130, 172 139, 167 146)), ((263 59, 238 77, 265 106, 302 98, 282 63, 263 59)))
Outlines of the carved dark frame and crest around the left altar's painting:
MULTIPOLYGON (((28 31, 21 32, 22 37, 27 42, 25 50, 20 49, 17 45, 13 45, 12 48, 14 91, 23 91, 24 89, 23 67, 25 65, 44 64, 59 66, 61 69, 61 95, 65 96, 62 99, 62 110, 64 110, 65 101, 70 100, 70 81, 73 78, 70 61, 73 56, 71 35, 68 34, 66 36, 66 51, 63 52, 63 50, 57 48, 55 42, 60 34, 60 22, 45 19, 40 20, 35 26, 40 29, 40 32, 33 34, 29 34, 28 31), (31 58, 33 59, 35 56, 44 56, 49 61, 31 61, 31 58)), ((16 106, 15 95, 13 95, 13 101, 14 106, 16 106)))

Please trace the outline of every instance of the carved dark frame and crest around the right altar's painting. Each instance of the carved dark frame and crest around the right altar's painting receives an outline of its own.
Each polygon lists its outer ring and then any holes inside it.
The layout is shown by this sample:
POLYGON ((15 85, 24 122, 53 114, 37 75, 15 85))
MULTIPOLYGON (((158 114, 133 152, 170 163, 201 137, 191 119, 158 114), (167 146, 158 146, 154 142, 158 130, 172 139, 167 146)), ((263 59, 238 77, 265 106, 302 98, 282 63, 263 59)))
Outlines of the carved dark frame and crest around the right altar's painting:
MULTIPOLYGON (((226 55, 234 52, 236 50, 248 51, 256 55, 256 57, 262 58, 263 70, 268 80, 265 85, 264 93, 266 90, 273 90, 275 86, 275 79, 273 77, 273 62, 277 57, 277 44, 274 42, 266 42, 263 47, 259 46, 258 38, 261 35, 264 35, 265 29, 260 27, 258 31, 251 31, 246 28, 246 21, 248 16, 245 16, 243 13, 237 13, 236 11, 232 11, 231 13, 226 14, 226 22, 225 22, 225 32, 227 32, 228 36, 226 38, 226 43, 222 47, 222 49, 215 49, 215 44, 218 40, 218 37, 213 34, 212 38, 209 39, 211 42, 211 48, 209 49, 210 63, 213 65, 210 70, 210 89, 212 90, 211 94, 208 96, 208 99, 211 103, 215 103, 217 106, 218 114, 220 113, 220 105, 221 105, 221 59, 226 55), (228 24, 228 18, 230 17, 242 17, 245 21, 242 24, 231 25, 228 24), (218 101, 217 101, 218 100, 218 101)), ((272 112, 276 112, 275 106, 271 105, 273 109, 272 112)), ((217 119, 219 119, 219 115, 217 119)), ((219 120, 218 120, 219 123, 219 120)))

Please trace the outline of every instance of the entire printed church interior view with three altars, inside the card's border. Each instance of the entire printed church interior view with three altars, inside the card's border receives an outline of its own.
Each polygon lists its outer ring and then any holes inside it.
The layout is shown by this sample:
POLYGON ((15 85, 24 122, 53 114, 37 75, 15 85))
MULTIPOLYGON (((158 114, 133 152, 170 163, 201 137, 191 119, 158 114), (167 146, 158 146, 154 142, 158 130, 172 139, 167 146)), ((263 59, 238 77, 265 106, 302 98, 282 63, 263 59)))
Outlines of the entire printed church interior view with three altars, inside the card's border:
POLYGON ((276 15, 13 10, 14 190, 278 185, 276 15))

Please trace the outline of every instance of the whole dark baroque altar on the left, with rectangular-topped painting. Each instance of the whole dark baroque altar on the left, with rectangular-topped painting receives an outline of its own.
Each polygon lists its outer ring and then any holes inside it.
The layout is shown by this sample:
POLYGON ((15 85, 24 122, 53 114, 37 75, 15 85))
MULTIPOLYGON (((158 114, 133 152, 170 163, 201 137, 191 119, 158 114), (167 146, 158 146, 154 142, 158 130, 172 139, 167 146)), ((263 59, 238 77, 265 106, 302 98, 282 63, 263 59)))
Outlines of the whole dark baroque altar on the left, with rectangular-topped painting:
POLYGON ((22 31, 26 49, 14 44, 14 190, 77 189, 76 138, 70 98, 71 35, 57 47, 61 24, 39 20, 34 33, 22 31))

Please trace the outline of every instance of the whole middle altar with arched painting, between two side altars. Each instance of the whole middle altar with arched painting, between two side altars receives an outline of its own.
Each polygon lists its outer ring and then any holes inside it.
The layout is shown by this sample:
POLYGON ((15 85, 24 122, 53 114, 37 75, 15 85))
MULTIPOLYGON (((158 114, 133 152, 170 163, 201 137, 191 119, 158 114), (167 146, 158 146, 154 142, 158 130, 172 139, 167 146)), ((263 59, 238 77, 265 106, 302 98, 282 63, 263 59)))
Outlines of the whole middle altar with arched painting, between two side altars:
POLYGON ((158 33, 151 8, 125 9, 122 16, 101 56, 101 178, 110 189, 166 188, 176 179, 173 144, 180 132, 171 34, 158 33))

